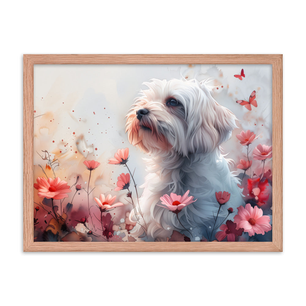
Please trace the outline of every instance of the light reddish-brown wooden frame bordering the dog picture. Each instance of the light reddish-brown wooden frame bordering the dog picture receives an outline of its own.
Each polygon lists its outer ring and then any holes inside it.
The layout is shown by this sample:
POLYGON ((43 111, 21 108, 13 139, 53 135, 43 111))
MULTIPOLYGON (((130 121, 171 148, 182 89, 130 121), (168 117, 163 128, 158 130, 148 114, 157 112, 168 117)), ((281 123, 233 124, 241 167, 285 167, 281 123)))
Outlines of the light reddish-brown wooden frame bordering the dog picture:
POLYGON ((282 252, 281 54, 24 54, 24 252, 282 252), (272 65, 272 242, 34 242, 34 65, 269 64, 272 65))

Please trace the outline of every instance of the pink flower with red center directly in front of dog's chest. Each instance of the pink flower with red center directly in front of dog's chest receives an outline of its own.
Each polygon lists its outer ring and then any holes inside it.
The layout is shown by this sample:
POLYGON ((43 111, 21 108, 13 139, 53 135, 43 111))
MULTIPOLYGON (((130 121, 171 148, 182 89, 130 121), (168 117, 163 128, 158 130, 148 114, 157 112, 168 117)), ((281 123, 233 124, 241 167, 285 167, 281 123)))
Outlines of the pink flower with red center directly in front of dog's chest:
POLYGON ((162 205, 157 204, 157 206, 165 207, 170 211, 173 211, 174 213, 178 214, 185 206, 196 201, 193 200, 193 196, 188 196, 188 194, 189 190, 187 190, 183 196, 179 196, 172 192, 170 193, 170 196, 164 194, 160 197, 162 205))

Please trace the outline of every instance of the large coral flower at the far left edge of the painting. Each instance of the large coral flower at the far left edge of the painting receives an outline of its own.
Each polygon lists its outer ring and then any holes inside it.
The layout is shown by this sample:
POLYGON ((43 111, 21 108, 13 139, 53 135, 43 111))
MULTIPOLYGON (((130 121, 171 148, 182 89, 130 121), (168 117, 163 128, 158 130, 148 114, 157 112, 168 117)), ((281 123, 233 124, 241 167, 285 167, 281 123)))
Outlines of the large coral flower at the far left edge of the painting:
POLYGON ((38 196, 40 198, 60 200, 68 197, 68 192, 71 192, 69 189, 70 186, 67 185, 66 181, 61 181, 59 177, 56 179, 48 178, 46 180, 44 177, 38 177, 36 179, 37 184, 34 184, 34 188, 37 189, 38 196))

